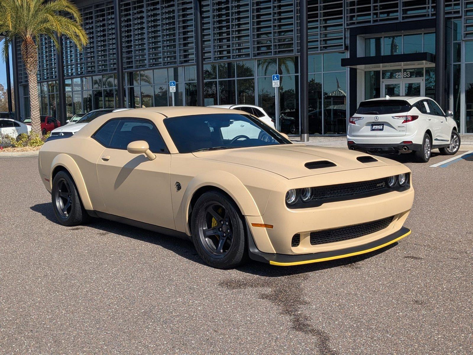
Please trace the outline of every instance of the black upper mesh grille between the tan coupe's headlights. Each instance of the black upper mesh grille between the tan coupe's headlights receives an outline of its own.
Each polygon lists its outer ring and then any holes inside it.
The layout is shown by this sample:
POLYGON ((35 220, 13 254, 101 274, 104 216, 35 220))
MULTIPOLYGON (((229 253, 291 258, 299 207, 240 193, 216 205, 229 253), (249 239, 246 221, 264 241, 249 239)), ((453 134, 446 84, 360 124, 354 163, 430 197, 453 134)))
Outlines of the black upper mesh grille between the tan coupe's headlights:
POLYGON ((387 181, 388 177, 383 177, 376 180, 314 187, 314 197, 312 200, 323 200, 325 198, 339 198, 344 196, 355 198, 353 195, 368 194, 388 187, 387 181))

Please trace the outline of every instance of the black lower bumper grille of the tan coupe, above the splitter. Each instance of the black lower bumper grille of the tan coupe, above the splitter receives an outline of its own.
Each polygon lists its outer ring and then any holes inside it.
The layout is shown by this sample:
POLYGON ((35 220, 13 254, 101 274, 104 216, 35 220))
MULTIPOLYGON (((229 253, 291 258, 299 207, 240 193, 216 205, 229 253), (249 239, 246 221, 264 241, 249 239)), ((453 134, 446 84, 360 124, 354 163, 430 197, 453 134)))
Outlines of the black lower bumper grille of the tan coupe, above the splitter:
POLYGON ((324 243, 333 243, 336 241, 350 240, 371 233, 376 233, 385 229, 391 222, 394 216, 386 217, 377 221, 353 224, 351 226, 326 229, 324 231, 315 231, 310 233, 310 244, 318 245, 324 243))

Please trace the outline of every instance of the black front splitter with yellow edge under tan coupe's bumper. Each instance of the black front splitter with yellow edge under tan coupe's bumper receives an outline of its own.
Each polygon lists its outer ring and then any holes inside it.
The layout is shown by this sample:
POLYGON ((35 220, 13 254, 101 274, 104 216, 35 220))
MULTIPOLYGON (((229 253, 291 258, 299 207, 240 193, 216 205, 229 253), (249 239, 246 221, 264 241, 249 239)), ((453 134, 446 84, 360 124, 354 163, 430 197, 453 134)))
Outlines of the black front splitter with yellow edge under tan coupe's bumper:
POLYGON ((256 248, 251 231, 248 229, 247 232, 248 232, 248 249, 249 249, 250 257, 256 261, 261 261, 264 263, 269 263, 271 265, 278 265, 278 266, 311 264, 311 263, 318 263, 321 261, 341 259, 343 257, 352 257, 355 255, 365 254, 377 249, 384 248, 411 234, 411 230, 405 227, 401 227, 400 230, 392 234, 389 234, 383 238, 373 240, 366 244, 353 246, 350 248, 322 251, 322 252, 312 253, 312 254, 285 255, 285 254, 261 252, 260 250, 258 250, 258 248, 256 248))

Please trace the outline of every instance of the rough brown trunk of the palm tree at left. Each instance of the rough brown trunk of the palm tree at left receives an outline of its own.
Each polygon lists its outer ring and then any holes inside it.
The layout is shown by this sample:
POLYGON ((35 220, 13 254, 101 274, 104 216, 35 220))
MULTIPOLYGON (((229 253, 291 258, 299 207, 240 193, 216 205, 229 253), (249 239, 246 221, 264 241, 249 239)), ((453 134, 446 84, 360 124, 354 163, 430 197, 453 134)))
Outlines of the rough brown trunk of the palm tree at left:
POLYGON ((32 132, 41 135, 41 121, 38 99, 38 47, 31 37, 26 38, 21 43, 21 58, 25 63, 28 74, 28 91, 30 101, 30 117, 32 132))

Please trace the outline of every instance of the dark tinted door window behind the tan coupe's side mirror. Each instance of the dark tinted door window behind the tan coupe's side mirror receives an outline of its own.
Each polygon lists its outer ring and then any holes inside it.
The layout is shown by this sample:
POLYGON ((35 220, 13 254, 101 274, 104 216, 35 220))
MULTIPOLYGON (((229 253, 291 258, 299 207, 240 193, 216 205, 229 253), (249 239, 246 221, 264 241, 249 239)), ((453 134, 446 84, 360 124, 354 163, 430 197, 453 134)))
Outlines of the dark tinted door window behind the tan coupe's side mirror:
POLYGON ((126 149, 131 142, 145 141, 153 153, 166 151, 166 144, 151 122, 132 118, 121 119, 118 122, 109 144, 110 148, 126 149))

